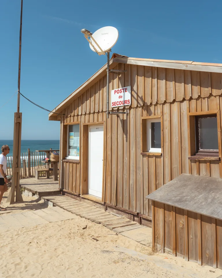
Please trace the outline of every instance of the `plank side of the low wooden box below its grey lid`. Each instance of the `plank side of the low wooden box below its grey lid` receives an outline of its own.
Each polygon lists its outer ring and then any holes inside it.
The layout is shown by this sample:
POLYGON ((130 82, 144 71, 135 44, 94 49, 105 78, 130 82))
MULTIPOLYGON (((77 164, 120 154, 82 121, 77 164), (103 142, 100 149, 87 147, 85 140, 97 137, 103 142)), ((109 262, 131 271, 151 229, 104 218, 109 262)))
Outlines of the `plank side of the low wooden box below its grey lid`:
POLYGON ((161 251, 222 268, 222 221, 153 202, 153 245, 161 251))

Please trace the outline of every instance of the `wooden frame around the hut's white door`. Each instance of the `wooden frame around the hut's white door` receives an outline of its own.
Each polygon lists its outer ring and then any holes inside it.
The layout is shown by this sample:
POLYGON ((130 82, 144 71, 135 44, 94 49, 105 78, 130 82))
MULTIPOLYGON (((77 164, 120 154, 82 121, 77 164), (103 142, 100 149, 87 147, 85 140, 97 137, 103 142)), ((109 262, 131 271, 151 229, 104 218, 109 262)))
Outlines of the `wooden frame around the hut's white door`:
MULTIPOLYGON (((105 184, 104 184, 104 167, 106 167, 106 161, 105 161, 105 144, 106 144, 106 122, 105 121, 100 121, 100 122, 87 122, 83 123, 81 126, 81 195, 89 195, 88 194, 88 134, 89 134, 89 126, 93 125, 98 125, 102 126, 103 125, 103 184, 102 184, 102 202, 104 202, 105 199, 105 194, 104 194, 104 189, 105 189, 105 184)), ((91 196, 91 195, 90 195, 91 196)), ((92 195, 93 196, 93 195, 92 195)), ((101 202, 101 198, 93 196, 94 199, 98 198, 98 202, 101 202)))

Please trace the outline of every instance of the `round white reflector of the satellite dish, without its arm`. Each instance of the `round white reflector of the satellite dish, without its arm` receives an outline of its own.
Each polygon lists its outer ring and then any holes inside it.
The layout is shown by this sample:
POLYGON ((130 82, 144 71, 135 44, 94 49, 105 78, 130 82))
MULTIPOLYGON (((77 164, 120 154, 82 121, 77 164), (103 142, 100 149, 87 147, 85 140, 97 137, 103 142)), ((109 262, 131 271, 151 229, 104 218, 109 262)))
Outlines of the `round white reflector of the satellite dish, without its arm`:
MULTIPOLYGON (((95 33, 92 34, 92 38, 97 42, 103 52, 110 50, 117 42, 119 38, 119 32, 116 28, 112 26, 107 26, 100 28, 95 33)), ((101 52, 99 47, 94 43, 93 39, 90 38, 90 41, 93 43, 94 47, 98 52, 101 52)), ((96 52, 95 49, 89 44, 89 47, 92 51, 96 52)))

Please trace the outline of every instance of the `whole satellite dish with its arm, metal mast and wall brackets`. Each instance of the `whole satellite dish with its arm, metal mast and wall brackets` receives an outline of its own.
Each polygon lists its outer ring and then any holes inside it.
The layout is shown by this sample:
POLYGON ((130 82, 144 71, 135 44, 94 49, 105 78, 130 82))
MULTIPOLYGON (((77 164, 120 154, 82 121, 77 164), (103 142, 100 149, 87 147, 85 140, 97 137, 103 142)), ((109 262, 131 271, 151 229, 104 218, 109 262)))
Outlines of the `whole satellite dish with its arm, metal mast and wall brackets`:
MULTIPOLYGON (((92 34, 87 29, 82 29, 81 32, 84 37, 89 42, 89 47, 92 51, 100 55, 107 55, 107 83, 109 84, 109 73, 110 71, 115 72, 115 70, 110 70, 110 51, 111 48, 116 44, 119 38, 119 32, 116 28, 112 26, 107 26, 100 28, 95 33, 92 34)), ((118 70, 116 72, 126 72, 125 70, 118 70)), ((127 112, 111 112, 109 111, 109 86, 107 86, 107 100, 106 100, 106 116, 109 118, 109 114, 127 114, 127 112)))

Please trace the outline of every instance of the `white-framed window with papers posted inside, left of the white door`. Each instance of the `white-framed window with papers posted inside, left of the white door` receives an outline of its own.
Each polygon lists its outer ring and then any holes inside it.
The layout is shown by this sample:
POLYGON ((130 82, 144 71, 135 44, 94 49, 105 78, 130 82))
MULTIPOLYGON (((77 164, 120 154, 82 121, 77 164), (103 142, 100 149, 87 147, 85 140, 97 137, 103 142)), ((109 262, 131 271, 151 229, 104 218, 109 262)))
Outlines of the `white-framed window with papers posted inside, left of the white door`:
POLYGON ((79 160, 79 124, 68 126, 67 158, 79 160))

